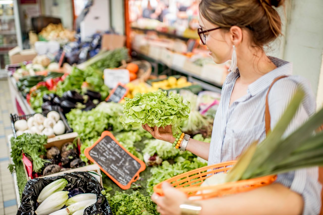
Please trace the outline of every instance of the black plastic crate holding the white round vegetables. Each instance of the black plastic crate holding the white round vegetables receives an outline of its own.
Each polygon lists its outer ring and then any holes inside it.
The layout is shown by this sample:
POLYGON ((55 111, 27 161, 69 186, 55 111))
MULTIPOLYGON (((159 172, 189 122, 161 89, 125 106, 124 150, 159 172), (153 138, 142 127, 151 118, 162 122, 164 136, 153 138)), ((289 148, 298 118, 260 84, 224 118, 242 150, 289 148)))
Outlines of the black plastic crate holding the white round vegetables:
MULTIPOLYGON (((59 116, 60 116, 60 119, 63 121, 64 125, 65 125, 65 133, 71 133, 73 132, 73 129, 71 129, 67 123, 67 120, 64 116, 64 114, 61 112, 60 108, 58 106, 53 106, 52 107, 52 110, 50 111, 56 111, 59 113, 59 116)), ((44 116, 47 116, 47 113, 50 112, 49 110, 46 110, 44 112, 42 112, 42 114, 44 116)), ((18 116, 16 113, 14 114, 10 114, 10 118, 11 118, 11 128, 12 128, 12 132, 14 134, 14 137, 17 138, 17 135, 16 135, 16 129, 15 129, 15 122, 18 121, 18 120, 28 120, 30 117, 34 116, 36 113, 33 113, 33 114, 29 114, 29 115, 23 115, 23 116, 18 116)))

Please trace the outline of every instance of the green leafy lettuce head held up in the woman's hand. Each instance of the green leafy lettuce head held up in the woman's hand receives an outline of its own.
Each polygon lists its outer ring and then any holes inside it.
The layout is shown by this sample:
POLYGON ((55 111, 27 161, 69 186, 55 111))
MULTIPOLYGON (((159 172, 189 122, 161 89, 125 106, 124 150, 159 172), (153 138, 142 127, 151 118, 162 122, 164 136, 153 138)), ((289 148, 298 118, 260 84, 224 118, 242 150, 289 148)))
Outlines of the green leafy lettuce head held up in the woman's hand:
POLYGON ((175 135, 181 132, 180 123, 187 120, 190 113, 190 103, 184 103, 182 96, 172 92, 169 96, 161 90, 137 93, 133 99, 125 100, 124 116, 120 117, 120 122, 126 129, 130 125, 134 128, 140 128, 142 124, 158 128, 172 125, 175 135))

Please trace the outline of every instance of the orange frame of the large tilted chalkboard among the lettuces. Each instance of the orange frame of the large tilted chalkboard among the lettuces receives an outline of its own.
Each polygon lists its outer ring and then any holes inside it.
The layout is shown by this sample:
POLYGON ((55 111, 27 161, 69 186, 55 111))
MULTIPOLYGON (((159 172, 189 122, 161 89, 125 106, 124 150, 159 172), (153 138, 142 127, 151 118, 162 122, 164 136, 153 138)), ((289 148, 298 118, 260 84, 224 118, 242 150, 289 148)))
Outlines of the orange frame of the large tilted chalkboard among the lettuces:
POLYGON ((132 182, 135 182, 138 180, 139 178, 139 173, 144 171, 146 169, 146 164, 141 161, 139 158, 137 158, 136 156, 134 156, 133 154, 131 154, 128 150, 126 150, 117 140, 116 138, 113 136, 113 134, 111 132, 108 132, 108 131, 104 131, 102 132, 101 134, 101 137, 99 138, 99 140, 97 140, 92 146, 88 147, 88 148, 85 148, 84 149, 84 154, 85 156, 90 160, 92 161, 93 163, 97 163, 100 167, 100 169, 107 175, 109 176, 109 178, 114 181, 121 189, 123 190, 127 190, 130 188, 131 186, 131 183, 132 182), (109 172, 105 171, 90 155, 89 155, 89 152, 90 150, 96 146, 96 144, 98 144, 104 137, 106 136, 109 136, 114 142, 116 142, 125 152, 127 152, 134 160, 136 160, 138 163, 140 163, 141 167, 140 169, 136 172, 136 174, 132 177, 132 179, 129 181, 129 183, 127 185, 122 185, 119 183, 118 180, 116 180, 115 178, 113 178, 109 172))

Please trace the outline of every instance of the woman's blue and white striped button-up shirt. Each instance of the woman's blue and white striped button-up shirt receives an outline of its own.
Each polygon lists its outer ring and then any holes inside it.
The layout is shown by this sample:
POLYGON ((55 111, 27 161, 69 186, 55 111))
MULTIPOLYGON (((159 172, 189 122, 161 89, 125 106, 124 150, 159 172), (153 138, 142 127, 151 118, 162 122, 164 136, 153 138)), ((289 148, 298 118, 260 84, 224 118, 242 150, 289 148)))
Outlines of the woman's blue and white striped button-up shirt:
MULTIPOLYGON (((221 101, 214 119, 209 165, 236 160, 252 142, 256 140, 261 142, 266 138, 266 94, 270 84, 278 76, 289 75, 278 80, 270 90, 268 102, 271 129, 275 127, 286 110, 298 84, 303 86, 306 98, 284 135, 287 136, 295 131, 309 116, 315 113, 315 97, 308 81, 300 76, 292 76, 292 63, 274 57, 270 57, 270 59, 277 68, 251 83, 248 86, 247 94, 237 99, 230 107, 230 96, 234 83, 240 76, 238 68, 236 72, 229 73, 226 77, 222 88, 221 101)), ((276 182, 302 195, 304 199, 303 214, 319 213, 322 187, 318 182, 318 168, 307 168, 279 174, 276 182)))

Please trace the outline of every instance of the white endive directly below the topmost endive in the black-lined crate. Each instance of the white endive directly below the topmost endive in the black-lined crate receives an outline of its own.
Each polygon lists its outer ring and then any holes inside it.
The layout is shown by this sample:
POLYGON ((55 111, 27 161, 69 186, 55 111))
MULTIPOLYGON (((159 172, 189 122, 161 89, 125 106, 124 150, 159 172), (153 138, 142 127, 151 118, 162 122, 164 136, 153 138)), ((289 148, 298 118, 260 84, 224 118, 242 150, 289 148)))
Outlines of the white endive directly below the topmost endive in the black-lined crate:
POLYGON ((68 191, 58 191, 45 199, 35 210, 37 215, 48 215, 61 209, 68 200, 68 191))

